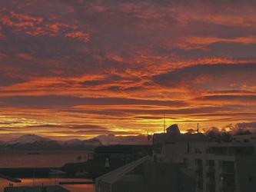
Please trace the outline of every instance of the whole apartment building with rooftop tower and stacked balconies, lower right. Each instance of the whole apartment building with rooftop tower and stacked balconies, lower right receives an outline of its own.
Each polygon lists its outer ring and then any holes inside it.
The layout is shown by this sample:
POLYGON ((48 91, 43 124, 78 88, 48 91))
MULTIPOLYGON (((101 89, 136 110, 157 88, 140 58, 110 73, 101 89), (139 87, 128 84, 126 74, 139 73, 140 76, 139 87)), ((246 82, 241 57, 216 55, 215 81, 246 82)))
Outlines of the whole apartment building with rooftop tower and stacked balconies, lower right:
MULTIPOLYGON (((181 134, 171 125, 153 137, 155 162, 183 162, 194 171, 197 192, 256 191, 256 135, 234 136, 232 142, 209 142, 204 134, 181 134)), ((181 191, 185 184, 182 184, 181 191), (183 187, 182 187, 183 186, 183 187)))

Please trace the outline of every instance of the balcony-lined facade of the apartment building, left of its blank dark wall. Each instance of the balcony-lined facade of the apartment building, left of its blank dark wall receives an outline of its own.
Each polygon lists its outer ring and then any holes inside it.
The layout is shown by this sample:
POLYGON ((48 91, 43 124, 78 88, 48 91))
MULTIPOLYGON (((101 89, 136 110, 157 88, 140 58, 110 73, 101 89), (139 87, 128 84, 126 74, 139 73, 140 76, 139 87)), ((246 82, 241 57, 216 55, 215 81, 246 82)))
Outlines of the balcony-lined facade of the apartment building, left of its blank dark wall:
MULTIPOLYGON (((198 146, 195 144, 193 147, 198 146)), ((208 154, 207 146, 204 148, 200 153, 192 150, 191 154, 184 155, 185 167, 196 170, 196 191, 224 192, 227 189, 238 189, 238 184, 235 183, 235 180, 238 180, 235 178, 236 167, 227 167, 228 164, 234 165, 234 156, 208 154), (232 177, 234 181, 231 181, 232 177)), ((238 191, 240 190, 236 190, 238 191)))

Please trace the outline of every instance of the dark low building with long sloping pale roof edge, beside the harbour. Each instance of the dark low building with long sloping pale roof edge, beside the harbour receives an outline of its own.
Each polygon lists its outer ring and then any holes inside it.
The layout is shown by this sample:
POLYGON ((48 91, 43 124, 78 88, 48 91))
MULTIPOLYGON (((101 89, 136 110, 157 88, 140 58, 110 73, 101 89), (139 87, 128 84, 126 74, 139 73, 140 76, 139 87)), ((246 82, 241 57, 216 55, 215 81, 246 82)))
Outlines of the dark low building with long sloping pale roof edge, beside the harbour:
POLYGON ((178 192, 179 163, 154 163, 142 157, 95 180, 95 191, 101 192, 178 192), (100 189, 100 190, 99 190, 100 189))

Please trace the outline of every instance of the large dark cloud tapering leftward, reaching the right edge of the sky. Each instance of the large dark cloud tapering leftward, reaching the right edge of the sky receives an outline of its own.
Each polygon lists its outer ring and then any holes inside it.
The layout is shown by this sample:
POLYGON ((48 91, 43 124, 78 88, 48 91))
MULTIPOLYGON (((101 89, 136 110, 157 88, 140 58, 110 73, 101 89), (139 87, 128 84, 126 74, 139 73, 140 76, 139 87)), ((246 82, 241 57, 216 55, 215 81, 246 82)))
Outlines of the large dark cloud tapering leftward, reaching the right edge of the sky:
MULTIPOLYGON (((229 81, 229 83, 241 82, 242 78, 254 79, 254 74, 256 72, 254 66, 254 63, 194 65, 171 71, 167 74, 155 75, 152 80, 157 84, 172 88, 178 88, 180 86, 192 87, 194 84, 197 84, 197 81, 200 80, 200 78, 205 78, 205 81, 214 81, 214 79, 217 78, 224 78, 229 81)), ((226 82, 226 84, 227 83, 228 82, 226 82)))

